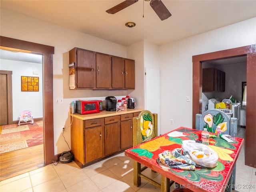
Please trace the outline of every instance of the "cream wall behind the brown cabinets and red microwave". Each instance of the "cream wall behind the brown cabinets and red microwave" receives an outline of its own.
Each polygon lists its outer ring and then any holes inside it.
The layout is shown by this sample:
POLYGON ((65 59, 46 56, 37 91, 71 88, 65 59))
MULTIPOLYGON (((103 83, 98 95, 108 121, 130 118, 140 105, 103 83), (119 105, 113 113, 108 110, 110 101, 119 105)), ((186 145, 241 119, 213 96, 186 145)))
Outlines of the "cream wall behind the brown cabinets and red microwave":
MULTIPOLYGON (((127 90, 69 90, 69 55, 74 47, 93 50, 124 58, 127 57, 126 47, 109 42, 88 34, 69 30, 41 20, 30 18, 1 8, 1 36, 25 40, 29 42, 54 46, 53 56, 53 98, 54 98, 54 154, 69 150, 62 137, 62 127, 66 126, 64 136, 70 145, 69 108, 72 101, 78 98, 105 98, 106 96, 137 96, 127 90), (64 98, 63 104, 55 104, 55 98, 64 98)), ((137 61, 136 61, 137 62, 137 61)), ((140 85, 137 87, 139 88, 140 85)), ((136 88, 137 89, 137 88, 136 88)), ((143 90, 135 90, 136 94, 144 95, 143 90), (141 93, 140 93, 141 92, 141 93)), ((140 106, 139 99, 139 106, 140 106)), ((142 105, 143 106, 143 105, 142 105)))

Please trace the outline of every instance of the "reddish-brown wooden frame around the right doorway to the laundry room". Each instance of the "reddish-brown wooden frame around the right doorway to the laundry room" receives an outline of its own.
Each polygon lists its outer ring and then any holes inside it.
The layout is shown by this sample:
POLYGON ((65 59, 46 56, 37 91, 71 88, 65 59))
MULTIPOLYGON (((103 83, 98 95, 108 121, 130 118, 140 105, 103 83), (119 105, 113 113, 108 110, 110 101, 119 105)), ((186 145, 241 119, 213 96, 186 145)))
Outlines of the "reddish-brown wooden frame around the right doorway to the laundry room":
POLYGON ((195 128, 196 114, 202 114, 202 62, 247 56, 247 106, 245 164, 256 168, 256 44, 192 56, 193 62, 193 107, 192 126, 195 128))

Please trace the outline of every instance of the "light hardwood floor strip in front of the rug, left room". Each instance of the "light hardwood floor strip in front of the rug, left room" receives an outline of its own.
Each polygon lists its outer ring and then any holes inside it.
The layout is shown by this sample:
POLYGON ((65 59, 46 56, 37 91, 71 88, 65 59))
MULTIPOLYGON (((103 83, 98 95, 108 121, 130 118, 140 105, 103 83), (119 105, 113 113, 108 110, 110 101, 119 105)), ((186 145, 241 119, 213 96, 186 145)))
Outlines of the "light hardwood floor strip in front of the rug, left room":
POLYGON ((0 181, 44 166, 44 145, 0 154, 0 181))

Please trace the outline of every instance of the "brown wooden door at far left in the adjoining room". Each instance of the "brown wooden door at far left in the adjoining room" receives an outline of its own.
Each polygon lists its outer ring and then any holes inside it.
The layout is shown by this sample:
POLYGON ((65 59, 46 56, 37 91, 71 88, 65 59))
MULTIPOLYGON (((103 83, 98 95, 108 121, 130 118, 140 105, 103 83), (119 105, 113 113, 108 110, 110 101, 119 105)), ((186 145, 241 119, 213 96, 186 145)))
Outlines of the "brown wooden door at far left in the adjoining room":
POLYGON ((13 124, 12 71, 0 71, 0 125, 13 124))

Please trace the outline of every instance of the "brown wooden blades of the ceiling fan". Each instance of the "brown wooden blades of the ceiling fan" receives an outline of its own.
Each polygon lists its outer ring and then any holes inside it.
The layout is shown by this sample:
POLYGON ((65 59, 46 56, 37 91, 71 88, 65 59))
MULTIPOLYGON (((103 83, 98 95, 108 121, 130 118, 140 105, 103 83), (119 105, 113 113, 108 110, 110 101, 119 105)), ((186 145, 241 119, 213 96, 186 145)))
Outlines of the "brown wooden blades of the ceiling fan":
MULTIPOLYGON (((136 3, 137 1, 138 0, 126 0, 112 8, 106 10, 106 12, 110 13, 110 14, 115 14, 118 11, 123 10, 124 8, 136 3)), ((147 1, 147 0, 145 0, 145 1, 147 1)), ((166 8, 166 6, 164 5, 164 3, 161 0, 151 0, 150 6, 156 12, 156 14, 158 15, 158 17, 161 20, 165 20, 165 19, 169 18, 170 16, 172 16, 172 14, 169 12, 169 10, 166 8)))

